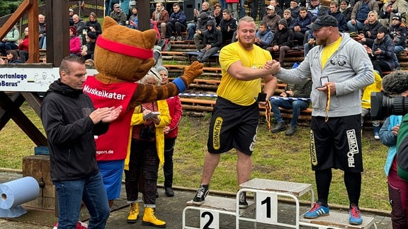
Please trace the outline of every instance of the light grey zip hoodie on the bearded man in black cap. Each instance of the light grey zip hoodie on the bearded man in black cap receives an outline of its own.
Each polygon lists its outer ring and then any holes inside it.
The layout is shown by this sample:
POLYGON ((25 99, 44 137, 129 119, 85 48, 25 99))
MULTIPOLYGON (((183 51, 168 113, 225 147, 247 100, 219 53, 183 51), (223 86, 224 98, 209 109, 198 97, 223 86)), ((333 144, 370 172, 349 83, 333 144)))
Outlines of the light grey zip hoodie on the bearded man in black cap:
POLYGON ((373 64, 363 45, 351 39, 348 33, 340 33, 339 49, 327 60, 322 69, 322 49, 318 45, 310 50, 305 60, 296 69, 280 69, 277 78, 299 83, 312 76, 312 116, 324 117, 327 103, 326 91, 315 89, 320 78, 328 76, 336 83, 336 95, 330 97, 329 117, 344 117, 361 114, 361 89, 374 83, 373 64))

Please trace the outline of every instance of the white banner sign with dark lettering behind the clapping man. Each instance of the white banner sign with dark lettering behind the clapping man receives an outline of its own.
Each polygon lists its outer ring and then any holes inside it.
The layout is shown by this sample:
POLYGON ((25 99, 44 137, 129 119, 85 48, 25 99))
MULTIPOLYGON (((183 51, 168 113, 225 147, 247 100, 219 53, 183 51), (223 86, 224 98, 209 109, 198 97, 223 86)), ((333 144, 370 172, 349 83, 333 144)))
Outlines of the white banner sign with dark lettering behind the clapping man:
MULTIPOLYGON (((97 73, 86 69, 87 75, 97 73)), ((0 91, 45 92, 60 78, 59 68, 0 68, 0 91)))

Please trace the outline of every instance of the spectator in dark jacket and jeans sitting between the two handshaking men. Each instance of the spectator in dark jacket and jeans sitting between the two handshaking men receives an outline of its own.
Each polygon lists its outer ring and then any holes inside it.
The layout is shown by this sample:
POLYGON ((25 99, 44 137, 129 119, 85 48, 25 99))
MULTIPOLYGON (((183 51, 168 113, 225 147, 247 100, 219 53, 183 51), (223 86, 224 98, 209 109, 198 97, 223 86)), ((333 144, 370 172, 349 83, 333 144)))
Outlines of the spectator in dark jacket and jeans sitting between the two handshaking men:
MULTIPOLYGON (((312 92, 312 80, 307 78, 306 81, 302 83, 297 83, 293 86, 293 89, 288 86, 280 96, 283 98, 310 98, 310 93, 312 92)), ((306 110, 309 107, 309 101, 303 100, 280 100, 271 98, 271 108, 273 112, 273 117, 276 119, 276 126, 271 129, 272 133, 278 133, 286 129, 285 122, 282 119, 282 114, 280 113, 279 107, 285 109, 292 109, 292 119, 290 120, 290 128, 285 132, 286 136, 293 136, 297 128, 297 118, 299 117, 301 110, 306 110)))

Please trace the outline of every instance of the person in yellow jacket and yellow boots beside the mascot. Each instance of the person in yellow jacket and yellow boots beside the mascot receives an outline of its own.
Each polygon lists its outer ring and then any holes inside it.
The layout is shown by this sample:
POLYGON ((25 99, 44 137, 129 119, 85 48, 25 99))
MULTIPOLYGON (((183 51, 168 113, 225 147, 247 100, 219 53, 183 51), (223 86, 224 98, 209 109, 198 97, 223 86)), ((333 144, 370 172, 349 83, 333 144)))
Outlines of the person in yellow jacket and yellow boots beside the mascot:
MULTIPOLYGON (((142 83, 159 86, 161 78, 155 71, 142 78, 142 83), (156 73, 156 74, 154 74, 156 73)), ((163 128, 171 117, 166 100, 147 102, 135 108, 132 116, 132 142, 125 159, 125 187, 130 212, 128 223, 135 223, 139 216, 138 193, 143 193, 145 213, 142 225, 165 228, 166 222, 154 215, 156 208, 157 173, 164 163, 163 128), (151 115, 150 113, 159 112, 151 115)))

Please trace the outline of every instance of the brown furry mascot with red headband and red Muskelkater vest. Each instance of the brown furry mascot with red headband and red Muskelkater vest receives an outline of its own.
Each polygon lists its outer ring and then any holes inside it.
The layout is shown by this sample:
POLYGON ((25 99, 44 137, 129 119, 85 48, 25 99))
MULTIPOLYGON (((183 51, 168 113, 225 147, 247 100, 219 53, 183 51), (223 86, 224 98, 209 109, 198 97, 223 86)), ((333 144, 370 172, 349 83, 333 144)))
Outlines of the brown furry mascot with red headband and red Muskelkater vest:
POLYGON ((96 158, 110 206, 120 194, 123 164, 130 148, 130 121, 135 107, 178 95, 194 78, 203 74, 203 64, 196 61, 186 67, 183 76, 164 86, 136 83, 154 65, 155 42, 154 30, 132 30, 108 16, 103 20, 103 33, 96 40, 94 61, 98 74, 86 79, 84 93, 89 95, 96 108, 123 107, 120 117, 111 123, 108 132, 95 139, 96 158))

